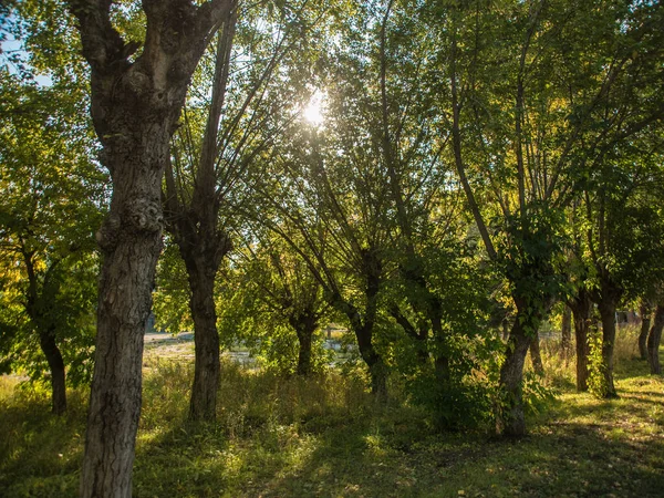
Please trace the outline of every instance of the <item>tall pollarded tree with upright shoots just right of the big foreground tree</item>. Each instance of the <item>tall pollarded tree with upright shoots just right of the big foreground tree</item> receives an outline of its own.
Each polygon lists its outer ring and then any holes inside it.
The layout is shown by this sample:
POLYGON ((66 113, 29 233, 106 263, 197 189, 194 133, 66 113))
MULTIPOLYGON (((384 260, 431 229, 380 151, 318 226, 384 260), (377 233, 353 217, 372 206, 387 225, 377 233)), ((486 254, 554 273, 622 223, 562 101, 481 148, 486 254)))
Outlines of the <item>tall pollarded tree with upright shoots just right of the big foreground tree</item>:
POLYGON ((189 93, 185 125, 166 170, 167 229, 189 282, 196 366, 189 416, 215 417, 219 335, 215 278, 231 249, 234 205, 246 199, 249 178, 291 118, 302 94, 305 33, 314 2, 239 3, 224 19, 214 55, 203 59, 189 93), (201 98, 201 95, 210 95, 201 98))

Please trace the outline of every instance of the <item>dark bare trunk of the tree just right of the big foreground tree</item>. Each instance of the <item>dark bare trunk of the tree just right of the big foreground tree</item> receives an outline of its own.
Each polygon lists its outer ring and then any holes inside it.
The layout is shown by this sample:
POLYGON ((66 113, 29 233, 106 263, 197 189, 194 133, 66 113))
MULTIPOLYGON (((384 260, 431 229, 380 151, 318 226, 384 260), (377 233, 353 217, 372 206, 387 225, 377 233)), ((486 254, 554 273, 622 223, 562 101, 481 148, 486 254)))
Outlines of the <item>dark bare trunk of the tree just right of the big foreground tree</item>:
MULTIPOLYGON (((187 241, 185 241, 187 243, 187 241)), ((180 253, 187 267, 191 295, 189 308, 194 320, 194 385, 189 402, 189 418, 211 422, 217 413, 217 391, 219 388, 219 333, 217 332, 217 310, 215 308, 214 261, 204 256, 193 256, 187 249, 180 253)), ((189 241, 189 246, 190 241, 189 241)), ((196 250, 196 248, 194 248, 196 250)))

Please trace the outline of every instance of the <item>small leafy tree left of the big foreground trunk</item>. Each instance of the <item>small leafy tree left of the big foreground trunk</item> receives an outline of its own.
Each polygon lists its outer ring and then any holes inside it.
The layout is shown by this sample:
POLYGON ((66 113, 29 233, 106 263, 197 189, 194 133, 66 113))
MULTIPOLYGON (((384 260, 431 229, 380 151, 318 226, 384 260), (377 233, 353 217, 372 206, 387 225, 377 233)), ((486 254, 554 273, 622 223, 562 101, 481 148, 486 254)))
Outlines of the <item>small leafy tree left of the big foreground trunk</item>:
POLYGON ((90 376, 93 232, 105 178, 90 157, 92 133, 79 94, 20 81, 4 69, 0 93, 0 354, 4 366, 49 378, 52 411, 62 414, 65 370, 74 384, 90 376))

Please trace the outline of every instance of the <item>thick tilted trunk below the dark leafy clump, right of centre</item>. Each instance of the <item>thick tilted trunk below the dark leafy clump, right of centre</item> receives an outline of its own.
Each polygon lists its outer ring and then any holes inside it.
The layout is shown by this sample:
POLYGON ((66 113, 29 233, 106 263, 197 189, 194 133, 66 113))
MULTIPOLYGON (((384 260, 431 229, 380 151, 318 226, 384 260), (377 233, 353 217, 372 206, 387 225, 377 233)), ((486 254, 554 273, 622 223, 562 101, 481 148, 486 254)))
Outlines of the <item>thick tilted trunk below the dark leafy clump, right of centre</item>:
POLYGON ((507 342, 505 363, 500 369, 500 390, 504 398, 497 409, 496 430, 504 436, 522 436, 526 434, 523 414, 523 364, 532 341, 523 329, 520 312, 517 311, 512 329, 507 342))

